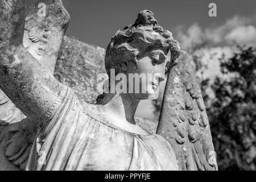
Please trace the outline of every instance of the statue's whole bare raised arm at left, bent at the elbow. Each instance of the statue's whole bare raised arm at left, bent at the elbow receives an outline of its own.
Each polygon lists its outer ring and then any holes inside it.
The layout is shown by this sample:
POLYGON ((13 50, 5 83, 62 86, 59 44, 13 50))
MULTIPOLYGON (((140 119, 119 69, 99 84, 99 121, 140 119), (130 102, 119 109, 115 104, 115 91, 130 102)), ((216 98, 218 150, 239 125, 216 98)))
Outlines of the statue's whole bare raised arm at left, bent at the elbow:
POLYGON ((0 88, 28 118, 46 122, 63 85, 23 47, 24 20, 24 0, 0 1, 0 88))

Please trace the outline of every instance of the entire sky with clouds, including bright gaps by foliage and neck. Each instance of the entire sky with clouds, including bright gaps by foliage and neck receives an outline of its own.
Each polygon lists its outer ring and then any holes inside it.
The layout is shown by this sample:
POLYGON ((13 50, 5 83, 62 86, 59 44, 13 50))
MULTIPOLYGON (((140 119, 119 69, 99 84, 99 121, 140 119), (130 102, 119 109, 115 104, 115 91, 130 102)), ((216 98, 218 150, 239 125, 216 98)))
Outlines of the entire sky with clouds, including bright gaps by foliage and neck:
MULTIPOLYGON (((28 5, 35 1, 29 0, 28 5)), ((256 46, 255 0, 63 0, 71 15, 66 35, 106 48, 117 30, 134 23, 139 11, 151 10, 160 26, 173 33, 181 49, 207 42, 196 53, 208 66, 205 77, 220 74, 218 58, 232 55, 233 46, 256 46), (216 3, 217 17, 210 17, 209 3, 216 3)), ((152 105, 142 103, 140 114, 153 118, 152 105), (149 114, 151 113, 151 114, 149 114)))

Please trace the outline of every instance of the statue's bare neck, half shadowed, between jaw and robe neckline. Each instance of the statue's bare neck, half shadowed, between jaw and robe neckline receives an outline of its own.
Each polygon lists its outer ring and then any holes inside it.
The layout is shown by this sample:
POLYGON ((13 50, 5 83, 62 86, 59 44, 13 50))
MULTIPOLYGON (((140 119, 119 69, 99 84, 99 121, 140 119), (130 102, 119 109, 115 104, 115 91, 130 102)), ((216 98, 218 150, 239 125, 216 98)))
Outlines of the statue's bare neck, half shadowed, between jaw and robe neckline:
POLYGON ((135 125, 134 115, 139 101, 133 94, 105 94, 104 98, 98 104, 112 108, 112 111, 123 121, 135 125))

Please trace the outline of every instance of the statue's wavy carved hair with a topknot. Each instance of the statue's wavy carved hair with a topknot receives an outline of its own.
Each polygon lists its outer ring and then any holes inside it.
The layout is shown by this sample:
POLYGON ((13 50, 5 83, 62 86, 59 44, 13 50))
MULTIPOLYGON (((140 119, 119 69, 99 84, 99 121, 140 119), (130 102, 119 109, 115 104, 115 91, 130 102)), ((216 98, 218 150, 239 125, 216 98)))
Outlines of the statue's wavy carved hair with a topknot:
POLYGON ((180 55, 179 43, 172 33, 159 26, 154 14, 149 10, 141 11, 134 24, 118 30, 106 49, 105 68, 118 69, 121 61, 133 60, 148 48, 159 48, 168 53, 171 51, 171 66, 176 64, 180 55))

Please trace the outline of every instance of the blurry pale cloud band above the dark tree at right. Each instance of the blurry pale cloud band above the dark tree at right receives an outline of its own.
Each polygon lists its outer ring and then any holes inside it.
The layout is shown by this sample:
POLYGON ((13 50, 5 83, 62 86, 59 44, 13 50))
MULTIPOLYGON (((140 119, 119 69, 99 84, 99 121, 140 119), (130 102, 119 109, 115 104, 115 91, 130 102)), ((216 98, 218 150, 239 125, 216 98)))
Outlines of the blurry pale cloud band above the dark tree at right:
POLYGON ((202 44, 210 47, 249 44, 256 46, 256 17, 234 16, 220 26, 203 28, 195 23, 185 30, 184 26, 176 28, 177 40, 183 49, 196 49, 202 44))

